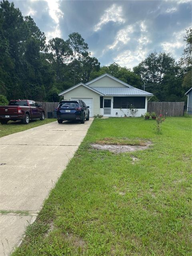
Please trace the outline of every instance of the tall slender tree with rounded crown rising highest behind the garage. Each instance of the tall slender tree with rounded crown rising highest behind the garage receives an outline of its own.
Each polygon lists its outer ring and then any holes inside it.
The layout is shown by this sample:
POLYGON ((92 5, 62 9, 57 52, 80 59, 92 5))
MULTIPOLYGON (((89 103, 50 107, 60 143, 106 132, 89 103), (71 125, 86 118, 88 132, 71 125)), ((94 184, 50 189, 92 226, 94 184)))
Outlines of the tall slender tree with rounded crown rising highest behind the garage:
POLYGON ((85 43, 85 40, 78 32, 74 32, 69 35, 69 39, 67 40, 70 48, 73 51, 74 56, 74 85, 76 82, 76 58, 77 56, 81 56, 82 53, 85 53, 88 50, 88 44, 85 43))

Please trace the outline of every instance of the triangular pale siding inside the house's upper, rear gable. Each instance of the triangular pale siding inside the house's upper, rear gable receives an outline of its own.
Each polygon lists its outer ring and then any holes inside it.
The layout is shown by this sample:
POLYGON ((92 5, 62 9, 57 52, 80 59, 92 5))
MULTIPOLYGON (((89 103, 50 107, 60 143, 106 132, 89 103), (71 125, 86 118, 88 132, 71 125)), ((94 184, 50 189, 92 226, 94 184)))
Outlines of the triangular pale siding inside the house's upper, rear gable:
POLYGON ((127 88, 127 86, 113 80, 108 76, 104 76, 100 78, 99 80, 93 82, 92 84, 89 84, 89 86, 90 87, 126 87, 127 88))

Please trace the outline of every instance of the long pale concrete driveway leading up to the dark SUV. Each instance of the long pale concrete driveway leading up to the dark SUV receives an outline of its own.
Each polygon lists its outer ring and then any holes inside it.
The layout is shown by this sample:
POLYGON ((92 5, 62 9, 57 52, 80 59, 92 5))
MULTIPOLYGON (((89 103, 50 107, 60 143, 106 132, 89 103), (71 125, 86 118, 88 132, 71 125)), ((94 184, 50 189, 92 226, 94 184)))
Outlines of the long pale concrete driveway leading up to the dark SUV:
POLYGON ((52 122, 0 138, 0 256, 20 244, 92 121, 52 122))

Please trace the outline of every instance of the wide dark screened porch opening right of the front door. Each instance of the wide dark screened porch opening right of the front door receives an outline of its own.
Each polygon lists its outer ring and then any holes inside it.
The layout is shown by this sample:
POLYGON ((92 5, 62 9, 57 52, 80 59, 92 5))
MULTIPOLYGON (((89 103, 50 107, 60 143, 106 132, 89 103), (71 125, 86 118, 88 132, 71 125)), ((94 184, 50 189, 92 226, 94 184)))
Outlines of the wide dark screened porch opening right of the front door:
POLYGON ((145 108, 145 97, 113 97, 113 108, 145 108))

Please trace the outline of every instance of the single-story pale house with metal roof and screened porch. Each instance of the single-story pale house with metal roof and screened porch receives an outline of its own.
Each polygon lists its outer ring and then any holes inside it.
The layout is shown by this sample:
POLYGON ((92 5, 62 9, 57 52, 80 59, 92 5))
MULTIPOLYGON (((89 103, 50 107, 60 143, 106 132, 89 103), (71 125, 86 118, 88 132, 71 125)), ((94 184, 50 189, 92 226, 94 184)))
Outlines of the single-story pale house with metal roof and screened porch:
POLYGON ((59 96, 64 96, 64 100, 83 100, 90 107, 90 116, 123 117, 130 105, 138 109, 136 116, 144 114, 147 111, 147 98, 153 94, 103 74, 86 84, 76 84, 59 96))

